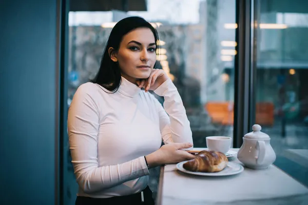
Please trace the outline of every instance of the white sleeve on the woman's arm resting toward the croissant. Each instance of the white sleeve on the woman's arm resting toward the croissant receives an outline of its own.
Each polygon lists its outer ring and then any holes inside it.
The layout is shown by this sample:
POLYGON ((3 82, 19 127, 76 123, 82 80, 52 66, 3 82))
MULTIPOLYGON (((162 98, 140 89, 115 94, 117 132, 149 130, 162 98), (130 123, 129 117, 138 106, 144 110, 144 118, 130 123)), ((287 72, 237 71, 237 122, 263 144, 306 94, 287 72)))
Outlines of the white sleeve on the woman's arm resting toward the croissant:
MULTIPOLYGON (((99 167, 98 131, 100 110, 95 90, 82 85, 68 112, 68 137, 76 180, 85 193, 108 189, 125 181, 148 175, 144 157, 119 165, 99 167)), ((106 145, 108 146, 108 145, 106 145)))

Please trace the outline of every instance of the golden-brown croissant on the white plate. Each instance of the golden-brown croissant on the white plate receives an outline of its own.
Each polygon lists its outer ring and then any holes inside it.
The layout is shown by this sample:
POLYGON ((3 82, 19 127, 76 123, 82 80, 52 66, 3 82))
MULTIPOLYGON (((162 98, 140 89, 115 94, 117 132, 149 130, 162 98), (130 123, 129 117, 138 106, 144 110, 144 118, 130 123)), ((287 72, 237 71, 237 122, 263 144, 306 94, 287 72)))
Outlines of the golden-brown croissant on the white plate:
POLYGON ((221 152, 203 150, 183 164, 183 168, 192 172, 220 172, 228 164, 228 158, 221 152))

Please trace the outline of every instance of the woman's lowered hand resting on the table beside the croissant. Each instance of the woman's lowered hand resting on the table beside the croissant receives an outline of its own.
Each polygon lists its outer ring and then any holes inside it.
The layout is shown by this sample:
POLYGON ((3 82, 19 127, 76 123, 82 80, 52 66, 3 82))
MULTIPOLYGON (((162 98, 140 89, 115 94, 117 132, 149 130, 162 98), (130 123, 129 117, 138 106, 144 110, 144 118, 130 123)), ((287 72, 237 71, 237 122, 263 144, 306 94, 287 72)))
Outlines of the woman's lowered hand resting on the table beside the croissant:
POLYGON ((191 143, 171 143, 162 146, 159 150, 145 156, 150 168, 169 163, 178 163, 195 158, 195 155, 181 150, 192 147, 191 143))

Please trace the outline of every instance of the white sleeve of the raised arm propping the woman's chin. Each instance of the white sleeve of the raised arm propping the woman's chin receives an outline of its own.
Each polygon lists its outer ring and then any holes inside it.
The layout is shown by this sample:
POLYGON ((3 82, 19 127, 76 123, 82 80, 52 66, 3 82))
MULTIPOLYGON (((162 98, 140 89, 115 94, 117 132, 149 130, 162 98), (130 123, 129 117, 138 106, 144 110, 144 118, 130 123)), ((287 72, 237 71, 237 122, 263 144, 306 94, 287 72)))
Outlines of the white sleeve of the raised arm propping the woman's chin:
POLYGON ((191 142, 190 123, 181 96, 170 79, 167 79, 155 91, 164 97, 164 107, 157 101, 160 130, 165 144, 170 142, 191 142))

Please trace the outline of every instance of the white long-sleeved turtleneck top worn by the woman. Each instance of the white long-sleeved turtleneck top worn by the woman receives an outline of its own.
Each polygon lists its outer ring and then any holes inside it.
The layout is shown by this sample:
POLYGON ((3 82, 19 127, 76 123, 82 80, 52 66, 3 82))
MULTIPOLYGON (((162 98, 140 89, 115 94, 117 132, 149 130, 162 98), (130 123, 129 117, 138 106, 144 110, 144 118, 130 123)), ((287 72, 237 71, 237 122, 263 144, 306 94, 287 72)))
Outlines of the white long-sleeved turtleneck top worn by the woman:
POLYGON ((122 77, 115 93, 81 85, 68 111, 68 137, 78 196, 107 198, 142 191, 149 170, 144 159, 170 142, 191 142, 181 97, 170 79, 157 98, 122 77))

